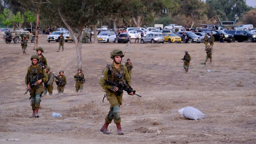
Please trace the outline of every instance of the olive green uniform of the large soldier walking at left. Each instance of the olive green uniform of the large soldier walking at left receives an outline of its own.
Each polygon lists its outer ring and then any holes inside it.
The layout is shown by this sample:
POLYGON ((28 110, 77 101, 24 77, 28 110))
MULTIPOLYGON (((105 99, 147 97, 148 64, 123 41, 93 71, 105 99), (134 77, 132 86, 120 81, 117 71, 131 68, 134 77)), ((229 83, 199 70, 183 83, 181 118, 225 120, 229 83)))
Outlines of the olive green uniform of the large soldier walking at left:
POLYGON ((42 93, 44 92, 44 86, 42 83, 47 82, 48 77, 46 75, 45 70, 43 70, 42 66, 40 66, 39 64, 37 64, 35 68, 33 67, 33 65, 29 66, 28 72, 25 76, 25 83, 29 84, 34 79, 36 79, 40 73, 44 75, 42 78, 42 82, 38 85, 38 88, 36 86, 32 86, 31 90, 29 91, 30 96, 31 96, 32 110, 34 110, 35 108, 40 108, 40 98, 42 96, 42 93), (36 98, 37 94, 40 94, 40 98, 36 98))

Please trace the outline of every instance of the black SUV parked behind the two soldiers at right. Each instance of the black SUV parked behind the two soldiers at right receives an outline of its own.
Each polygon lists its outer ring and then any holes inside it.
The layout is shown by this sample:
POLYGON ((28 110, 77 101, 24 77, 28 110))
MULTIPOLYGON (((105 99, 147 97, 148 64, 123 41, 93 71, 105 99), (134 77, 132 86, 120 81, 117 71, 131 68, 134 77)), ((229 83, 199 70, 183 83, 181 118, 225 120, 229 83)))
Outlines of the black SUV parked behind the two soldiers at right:
POLYGON ((234 36, 232 34, 227 34, 222 30, 202 29, 201 32, 207 33, 207 35, 210 35, 210 33, 213 33, 215 41, 220 41, 220 34, 222 32, 224 35, 224 41, 226 41, 228 43, 234 41, 234 36))

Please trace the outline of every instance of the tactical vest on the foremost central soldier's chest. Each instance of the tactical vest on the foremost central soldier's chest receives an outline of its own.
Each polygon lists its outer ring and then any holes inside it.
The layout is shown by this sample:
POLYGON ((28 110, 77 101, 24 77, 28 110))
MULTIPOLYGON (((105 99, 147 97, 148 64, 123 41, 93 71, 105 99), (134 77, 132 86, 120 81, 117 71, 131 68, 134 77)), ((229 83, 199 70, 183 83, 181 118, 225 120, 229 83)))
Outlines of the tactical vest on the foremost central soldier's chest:
POLYGON ((108 70, 108 80, 113 82, 113 83, 123 83, 123 84, 127 84, 126 80, 125 80, 125 76, 124 76, 124 66, 121 65, 121 69, 120 71, 115 71, 114 69, 112 69, 112 65, 113 64, 107 64, 107 68, 108 70), (122 76, 122 78, 119 78, 118 76, 122 76))

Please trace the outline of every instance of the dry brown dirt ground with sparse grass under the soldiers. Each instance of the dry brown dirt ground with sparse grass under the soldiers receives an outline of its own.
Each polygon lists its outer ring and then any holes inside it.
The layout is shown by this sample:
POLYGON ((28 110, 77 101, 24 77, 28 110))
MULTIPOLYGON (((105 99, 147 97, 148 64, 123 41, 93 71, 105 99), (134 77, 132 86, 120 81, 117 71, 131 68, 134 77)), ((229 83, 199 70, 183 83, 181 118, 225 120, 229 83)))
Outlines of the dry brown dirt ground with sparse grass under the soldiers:
MULTIPOLYGON (((2 37, 1 37, 2 38, 2 37)), ((121 106, 124 135, 117 135, 115 124, 110 135, 99 130, 109 111, 109 102, 99 85, 102 70, 111 63, 110 51, 126 44, 84 43, 82 63, 86 82, 83 93, 75 93, 73 76, 77 72, 74 43, 66 42, 64 52, 56 52, 58 43, 40 35, 51 71, 64 70, 67 85, 64 94, 42 97, 39 118, 32 113, 24 82, 35 54, 28 42, 27 54, 20 44, 0 41, 0 143, 62 144, 214 144, 256 143, 255 55, 256 43, 214 43, 213 62, 202 64, 203 44, 130 44, 125 53, 134 65, 132 87, 142 95, 123 95, 121 106), (184 51, 192 57, 189 73, 183 69, 184 51), (210 70, 210 72, 208 72, 210 70), (177 111, 192 106, 207 116, 188 120, 177 111), (52 118, 51 113, 62 117, 52 118)))

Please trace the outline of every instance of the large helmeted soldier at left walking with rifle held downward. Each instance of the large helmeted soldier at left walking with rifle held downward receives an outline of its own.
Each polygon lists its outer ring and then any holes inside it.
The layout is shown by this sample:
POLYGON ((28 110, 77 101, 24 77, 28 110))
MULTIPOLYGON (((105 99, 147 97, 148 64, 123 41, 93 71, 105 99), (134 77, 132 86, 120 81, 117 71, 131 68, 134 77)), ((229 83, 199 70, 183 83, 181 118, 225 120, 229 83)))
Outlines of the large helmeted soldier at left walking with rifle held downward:
POLYGON ((27 84, 27 89, 30 89, 29 93, 33 110, 33 114, 30 116, 30 118, 32 118, 39 117, 38 109, 40 108, 41 96, 44 92, 44 86, 42 82, 47 82, 48 78, 46 72, 42 69, 42 66, 38 64, 38 55, 32 55, 30 60, 32 61, 32 65, 28 67, 25 83, 27 84), (43 74, 43 77, 36 82, 38 88, 34 85, 30 87, 30 83, 33 82, 34 79, 38 78, 40 74, 43 74))

